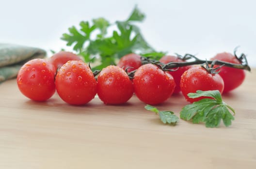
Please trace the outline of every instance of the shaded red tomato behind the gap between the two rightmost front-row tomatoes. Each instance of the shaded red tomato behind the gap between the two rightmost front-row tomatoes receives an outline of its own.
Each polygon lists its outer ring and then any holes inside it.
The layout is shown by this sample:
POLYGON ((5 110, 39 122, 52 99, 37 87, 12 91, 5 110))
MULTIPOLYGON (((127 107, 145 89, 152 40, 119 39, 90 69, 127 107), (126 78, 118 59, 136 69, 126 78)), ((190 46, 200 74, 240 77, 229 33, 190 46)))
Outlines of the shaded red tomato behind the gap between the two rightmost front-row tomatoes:
MULTIPOLYGON (((160 58, 159 60, 162 63, 169 63, 169 62, 186 62, 180 58, 178 58, 177 56, 163 56, 162 58, 160 58)), ((169 71, 169 73, 173 76, 174 81, 176 83, 176 87, 174 89, 174 93, 177 94, 180 92, 180 78, 181 75, 188 69, 190 69, 191 66, 183 66, 183 67, 179 67, 178 70, 176 71, 169 71)), ((176 68, 175 68, 176 69, 176 68)), ((175 70, 174 69, 174 70, 175 70)))

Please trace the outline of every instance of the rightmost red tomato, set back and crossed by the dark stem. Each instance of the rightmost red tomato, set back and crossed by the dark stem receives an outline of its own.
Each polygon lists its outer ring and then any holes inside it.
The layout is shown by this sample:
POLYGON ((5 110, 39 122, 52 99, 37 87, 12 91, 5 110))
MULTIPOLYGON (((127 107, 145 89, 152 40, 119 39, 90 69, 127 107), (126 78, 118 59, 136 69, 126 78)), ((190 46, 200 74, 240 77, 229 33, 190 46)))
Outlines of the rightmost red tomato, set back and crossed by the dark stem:
MULTIPOLYGON (((220 53, 211 58, 211 60, 222 60, 229 63, 241 64, 240 61, 230 53, 220 53)), ((217 66, 216 66, 217 67, 217 66)), ((240 86, 245 79, 245 71, 223 66, 220 68, 219 75, 224 81, 224 93, 227 93, 240 86)))

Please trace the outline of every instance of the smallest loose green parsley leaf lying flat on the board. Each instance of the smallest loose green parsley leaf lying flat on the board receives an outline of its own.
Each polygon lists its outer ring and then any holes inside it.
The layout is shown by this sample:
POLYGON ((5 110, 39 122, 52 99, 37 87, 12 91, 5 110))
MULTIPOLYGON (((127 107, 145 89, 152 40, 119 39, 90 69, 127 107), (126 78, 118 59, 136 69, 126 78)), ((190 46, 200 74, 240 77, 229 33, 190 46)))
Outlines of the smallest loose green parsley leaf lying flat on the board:
POLYGON ((144 108, 148 111, 159 114, 160 120, 164 124, 168 123, 168 124, 176 125, 176 123, 178 122, 179 118, 171 111, 159 111, 157 108, 148 104, 144 108))

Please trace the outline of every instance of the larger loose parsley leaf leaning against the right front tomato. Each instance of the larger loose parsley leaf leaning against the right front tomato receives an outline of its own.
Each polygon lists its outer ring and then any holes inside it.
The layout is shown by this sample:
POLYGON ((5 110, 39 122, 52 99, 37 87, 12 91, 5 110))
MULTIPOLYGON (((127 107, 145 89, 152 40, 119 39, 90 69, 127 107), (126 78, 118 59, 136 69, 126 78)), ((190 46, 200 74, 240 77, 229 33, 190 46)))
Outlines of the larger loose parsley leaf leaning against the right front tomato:
POLYGON ((204 122, 206 127, 218 127, 221 120, 228 127, 231 125, 231 121, 234 120, 234 116, 229 110, 234 114, 235 111, 222 100, 219 90, 197 90, 196 93, 189 93, 188 96, 190 98, 210 97, 212 99, 201 99, 186 105, 180 112, 181 119, 192 119, 193 123, 204 122))

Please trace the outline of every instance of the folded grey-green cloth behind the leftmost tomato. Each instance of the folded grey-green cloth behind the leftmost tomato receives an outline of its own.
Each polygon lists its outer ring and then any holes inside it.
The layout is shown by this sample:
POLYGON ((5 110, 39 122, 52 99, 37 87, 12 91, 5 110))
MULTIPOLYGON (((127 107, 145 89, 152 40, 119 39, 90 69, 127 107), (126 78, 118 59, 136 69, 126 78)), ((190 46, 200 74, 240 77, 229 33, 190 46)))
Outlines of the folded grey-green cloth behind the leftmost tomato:
POLYGON ((44 58, 43 49, 0 43, 0 83, 17 76, 18 70, 27 61, 34 58, 44 58))

